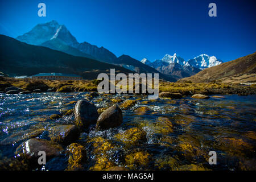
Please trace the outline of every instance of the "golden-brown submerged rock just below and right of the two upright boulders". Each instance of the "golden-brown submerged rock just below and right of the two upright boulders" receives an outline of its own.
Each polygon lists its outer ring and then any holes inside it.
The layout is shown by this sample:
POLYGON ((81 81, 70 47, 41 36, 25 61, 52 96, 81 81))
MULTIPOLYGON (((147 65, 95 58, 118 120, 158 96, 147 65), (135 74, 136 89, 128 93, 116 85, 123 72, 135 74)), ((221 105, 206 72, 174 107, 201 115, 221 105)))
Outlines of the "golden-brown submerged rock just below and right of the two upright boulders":
POLYGON ((146 132, 138 127, 133 127, 114 135, 114 138, 126 144, 136 145, 146 140, 146 132))

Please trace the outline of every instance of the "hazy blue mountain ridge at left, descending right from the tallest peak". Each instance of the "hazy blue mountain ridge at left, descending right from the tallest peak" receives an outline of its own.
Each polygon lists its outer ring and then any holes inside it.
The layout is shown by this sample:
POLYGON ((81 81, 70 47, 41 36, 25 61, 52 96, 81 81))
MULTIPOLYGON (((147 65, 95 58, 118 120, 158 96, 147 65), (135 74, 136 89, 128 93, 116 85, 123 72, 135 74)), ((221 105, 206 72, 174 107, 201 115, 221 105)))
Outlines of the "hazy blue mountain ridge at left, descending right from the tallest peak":
POLYGON ((168 81, 176 81, 175 78, 164 75, 130 56, 122 55, 117 57, 104 47, 97 47, 87 42, 77 42, 71 32, 69 32, 64 25, 60 25, 55 20, 36 25, 31 31, 18 36, 16 40, 34 46, 48 47, 73 56, 82 56, 104 63, 114 64, 117 67, 129 69, 132 72, 159 73, 159 78, 168 81))

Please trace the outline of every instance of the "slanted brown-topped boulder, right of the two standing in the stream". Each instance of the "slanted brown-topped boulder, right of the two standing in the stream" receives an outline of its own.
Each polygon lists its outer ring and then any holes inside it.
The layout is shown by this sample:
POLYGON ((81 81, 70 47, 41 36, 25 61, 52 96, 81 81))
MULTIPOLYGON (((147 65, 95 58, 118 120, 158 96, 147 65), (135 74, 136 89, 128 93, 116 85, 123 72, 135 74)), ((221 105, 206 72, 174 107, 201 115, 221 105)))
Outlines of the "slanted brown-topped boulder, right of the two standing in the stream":
POLYGON ((101 113, 97 119, 96 130, 107 130, 111 127, 117 127, 123 122, 122 110, 113 105, 101 113))

